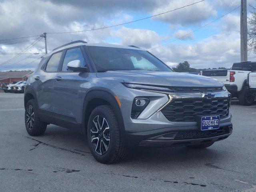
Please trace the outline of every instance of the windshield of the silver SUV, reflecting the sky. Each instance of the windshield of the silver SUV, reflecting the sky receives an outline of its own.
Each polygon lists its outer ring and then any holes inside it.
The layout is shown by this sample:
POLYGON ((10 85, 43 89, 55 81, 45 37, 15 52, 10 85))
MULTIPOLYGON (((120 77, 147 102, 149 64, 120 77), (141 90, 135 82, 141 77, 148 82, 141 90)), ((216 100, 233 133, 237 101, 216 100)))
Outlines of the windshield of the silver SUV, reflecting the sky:
POLYGON ((163 62, 144 50, 87 46, 97 71, 150 70, 172 71, 163 62))

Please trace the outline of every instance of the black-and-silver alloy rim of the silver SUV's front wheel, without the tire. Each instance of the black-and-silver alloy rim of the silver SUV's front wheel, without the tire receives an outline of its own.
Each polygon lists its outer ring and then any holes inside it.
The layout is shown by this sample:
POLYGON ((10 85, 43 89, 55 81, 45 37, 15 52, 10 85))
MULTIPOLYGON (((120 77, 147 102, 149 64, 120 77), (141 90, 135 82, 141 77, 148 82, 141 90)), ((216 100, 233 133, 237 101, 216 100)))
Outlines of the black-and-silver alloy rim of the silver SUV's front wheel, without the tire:
POLYGON ((104 155, 110 145, 110 129, 107 120, 103 116, 94 117, 90 130, 91 142, 95 152, 104 155))

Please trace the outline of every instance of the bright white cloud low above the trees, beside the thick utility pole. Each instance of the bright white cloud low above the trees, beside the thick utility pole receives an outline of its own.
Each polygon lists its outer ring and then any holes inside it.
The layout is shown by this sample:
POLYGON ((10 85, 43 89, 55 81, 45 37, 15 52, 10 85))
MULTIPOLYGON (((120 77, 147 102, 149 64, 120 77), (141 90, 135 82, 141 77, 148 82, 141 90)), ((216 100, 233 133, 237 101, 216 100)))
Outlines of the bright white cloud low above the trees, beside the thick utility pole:
POLYGON ((163 58, 164 62, 186 60, 193 68, 230 68, 234 62, 240 61, 240 34, 224 32, 195 44, 170 44, 152 53, 163 58))

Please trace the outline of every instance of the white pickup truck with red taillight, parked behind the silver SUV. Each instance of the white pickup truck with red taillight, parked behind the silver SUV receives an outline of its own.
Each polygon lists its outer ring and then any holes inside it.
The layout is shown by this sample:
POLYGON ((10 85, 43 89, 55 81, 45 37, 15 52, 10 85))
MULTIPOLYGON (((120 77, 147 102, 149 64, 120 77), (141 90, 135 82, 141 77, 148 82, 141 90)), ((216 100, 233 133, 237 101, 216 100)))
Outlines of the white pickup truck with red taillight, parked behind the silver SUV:
POLYGON ((251 71, 256 71, 256 62, 237 62, 231 70, 204 70, 200 75, 209 76, 222 82, 232 97, 238 98, 241 105, 252 105, 255 94, 249 91, 247 76, 251 71))

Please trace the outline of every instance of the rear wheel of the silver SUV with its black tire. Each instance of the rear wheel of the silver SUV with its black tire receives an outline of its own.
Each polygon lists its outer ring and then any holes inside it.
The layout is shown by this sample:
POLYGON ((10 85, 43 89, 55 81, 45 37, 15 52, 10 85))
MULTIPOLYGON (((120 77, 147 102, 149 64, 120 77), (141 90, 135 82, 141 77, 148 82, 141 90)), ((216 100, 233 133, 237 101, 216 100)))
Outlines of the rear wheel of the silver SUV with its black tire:
POLYGON ((36 100, 28 101, 25 108, 25 125, 28 134, 31 136, 40 136, 44 134, 47 124, 40 121, 38 117, 38 107, 36 100))

